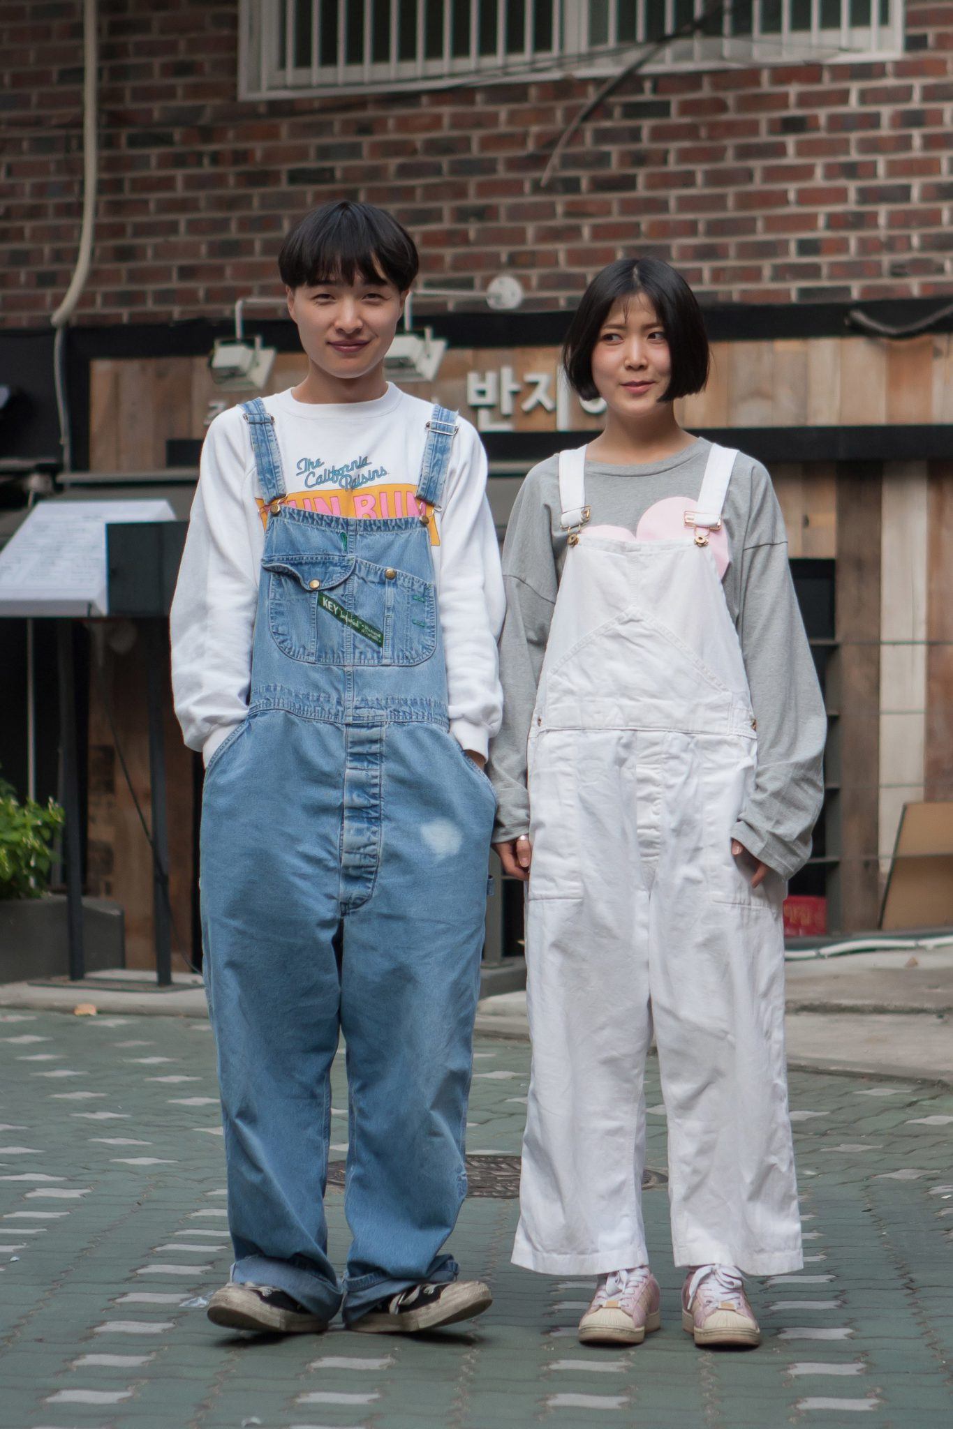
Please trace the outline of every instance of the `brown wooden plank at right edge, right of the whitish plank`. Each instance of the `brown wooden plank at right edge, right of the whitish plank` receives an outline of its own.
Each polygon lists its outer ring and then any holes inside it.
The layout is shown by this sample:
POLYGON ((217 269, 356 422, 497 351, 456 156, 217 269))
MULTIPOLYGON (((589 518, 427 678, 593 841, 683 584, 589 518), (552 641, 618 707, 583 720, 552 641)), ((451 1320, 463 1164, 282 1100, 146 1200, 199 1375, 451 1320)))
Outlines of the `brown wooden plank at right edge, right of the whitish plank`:
POLYGON ((924 796, 953 799, 953 462, 930 462, 924 796))

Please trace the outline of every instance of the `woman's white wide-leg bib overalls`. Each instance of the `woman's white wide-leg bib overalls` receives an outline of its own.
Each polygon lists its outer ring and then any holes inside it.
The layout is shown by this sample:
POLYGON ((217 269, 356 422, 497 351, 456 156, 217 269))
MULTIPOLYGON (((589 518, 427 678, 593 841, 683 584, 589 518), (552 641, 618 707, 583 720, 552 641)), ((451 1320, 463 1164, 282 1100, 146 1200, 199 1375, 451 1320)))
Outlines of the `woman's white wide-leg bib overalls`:
POLYGON ((709 530, 713 447, 666 540, 582 530, 586 449, 560 453, 567 552, 529 739, 533 1075, 513 1260, 647 1262, 644 1059, 669 1119, 676 1265, 802 1266, 784 1073, 783 880, 730 852, 756 727, 709 530))

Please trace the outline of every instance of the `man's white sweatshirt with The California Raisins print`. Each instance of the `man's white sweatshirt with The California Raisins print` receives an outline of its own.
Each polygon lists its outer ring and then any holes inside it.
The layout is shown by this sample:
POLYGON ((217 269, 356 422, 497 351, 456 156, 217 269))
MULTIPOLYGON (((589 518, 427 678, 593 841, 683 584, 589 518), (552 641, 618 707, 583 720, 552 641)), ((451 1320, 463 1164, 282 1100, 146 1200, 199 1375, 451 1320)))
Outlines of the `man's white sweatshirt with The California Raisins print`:
MULTIPOLYGON (((289 499, 340 516, 404 516, 417 490, 431 404, 387 386, 374 402, 264 399, 274 416, 289 499)), ((443 510, 431 517, 450 730, 487 753, 500 727, 496 642, 506 599, 486 499, 486 453, 463 419, 453 439, 443 510)), ((246 714, 267 509, 240 406, 209 427, 171 606, 176 714, 206 763, 246 714)))

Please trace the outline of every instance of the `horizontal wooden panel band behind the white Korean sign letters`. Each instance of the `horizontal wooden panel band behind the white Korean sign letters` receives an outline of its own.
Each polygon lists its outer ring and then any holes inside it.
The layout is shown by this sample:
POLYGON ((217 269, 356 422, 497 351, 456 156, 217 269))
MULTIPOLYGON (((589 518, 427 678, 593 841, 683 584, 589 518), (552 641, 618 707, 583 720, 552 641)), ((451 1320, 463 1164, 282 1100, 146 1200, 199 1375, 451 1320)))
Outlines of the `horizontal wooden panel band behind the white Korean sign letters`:
MULTIPOLYGON (((436 383, 420 383, 421 397, 439 397, 476 423, 467 406, 467 372, 509 367, 523 387, 513 413, 499 409, 487 419, 500 430, 556 429, 556 413, 522 403, 530 396, 526 379, 552 373, 556 394, 556 347, 451 347, 436 383)), ((306 372, 300 353, 279 353, 266 393, 281 392, 306 372)), ((90 379, 90 466, 99 472, 136 472, 166 464, 170 437, 200 437, 214 410, 244 393, 223 392, 209 373, 207 357, 101 359, 90 379)), ((884 423, 953 424, 953 336, 939 334, 889 343, 870 337, 774 339, 772 342, 713 343, 712 370, 704 392, 677 404, 690 427, 759 426, 882 426, 884 423)), ((602 417, 586 413, 573 396, 573 430, 599 430, 602 417)))

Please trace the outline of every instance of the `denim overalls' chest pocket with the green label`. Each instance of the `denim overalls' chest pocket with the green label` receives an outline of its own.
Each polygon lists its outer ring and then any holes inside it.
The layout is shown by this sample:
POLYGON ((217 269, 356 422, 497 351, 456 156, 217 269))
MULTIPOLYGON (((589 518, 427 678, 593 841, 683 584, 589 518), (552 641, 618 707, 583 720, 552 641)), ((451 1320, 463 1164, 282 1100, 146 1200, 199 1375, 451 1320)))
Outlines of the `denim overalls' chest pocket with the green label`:
POLYGON ((437 647, 433 583, 354 556, 289 554, 269 573, 269 629, 310 664, 420 664, 437 647))

